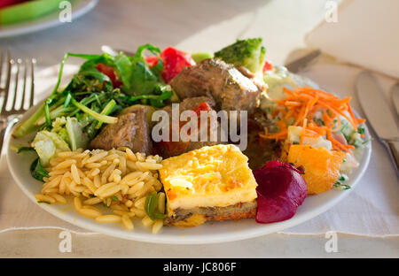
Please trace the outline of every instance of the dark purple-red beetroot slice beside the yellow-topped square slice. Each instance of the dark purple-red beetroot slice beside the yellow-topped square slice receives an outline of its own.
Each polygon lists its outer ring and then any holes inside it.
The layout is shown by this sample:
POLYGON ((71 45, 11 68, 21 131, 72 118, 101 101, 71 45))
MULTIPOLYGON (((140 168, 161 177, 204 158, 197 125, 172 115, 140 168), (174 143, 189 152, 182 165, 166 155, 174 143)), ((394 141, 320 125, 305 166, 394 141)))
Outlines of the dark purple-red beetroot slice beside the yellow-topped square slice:
POLYGON ((308 195, 301 172, 293 165, 270 161, 254 170, 258 183, 256 222, 270 223, 291 219, 308 195))

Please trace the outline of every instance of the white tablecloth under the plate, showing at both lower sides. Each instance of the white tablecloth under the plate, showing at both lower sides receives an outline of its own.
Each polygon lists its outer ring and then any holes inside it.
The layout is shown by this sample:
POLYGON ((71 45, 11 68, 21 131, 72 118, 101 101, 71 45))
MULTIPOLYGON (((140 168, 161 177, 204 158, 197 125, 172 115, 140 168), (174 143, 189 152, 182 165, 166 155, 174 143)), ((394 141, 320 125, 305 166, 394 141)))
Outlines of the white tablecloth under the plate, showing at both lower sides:
MULTIPOLYGON (((54 66, 37 73, 38 98, 43 98, 43 91, 48 91, 55 83, 58 69, 58 66, 54 66)), ((74 66, 66 66, 66 73, 73 70, 74 66)), ((359 71, 356 67, 323 63, 312 66, 302 75, 340 96, 353 96, 355 77, 359 71)), ((394 80, 387 77, 379 77, 379 80, 386 91, 394 83, 394 80)), ((356 96, 352 104, 362 114, 356 96)), ((0 168, 0 183, 0 233, 12 229, 51 227, 90 234, 90 231, 55 218, 32 203, 12 180, 4 157, 0 168)), ((280 233, 325 234, 327 231, 335 231, 370 236, 399 235, 398 196, 399 181, 394 166, 386 150, 374 139, 370 165, 350 195, 317 218, 280 233)))

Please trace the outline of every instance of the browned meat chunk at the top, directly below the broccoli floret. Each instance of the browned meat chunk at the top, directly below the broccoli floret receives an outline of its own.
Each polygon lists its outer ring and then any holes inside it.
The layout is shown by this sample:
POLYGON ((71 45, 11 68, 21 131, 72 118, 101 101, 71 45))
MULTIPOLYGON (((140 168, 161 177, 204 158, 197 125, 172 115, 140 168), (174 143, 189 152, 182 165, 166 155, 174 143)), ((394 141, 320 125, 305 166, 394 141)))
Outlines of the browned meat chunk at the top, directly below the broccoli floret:
POLYGON ((208 58, 195 66, 185 67, 170 85, 181 99, 212 96, 217 108, 224 111, 254 111, 266 86, 258 87, 254 79, 239 72, 221 59, 208 58))

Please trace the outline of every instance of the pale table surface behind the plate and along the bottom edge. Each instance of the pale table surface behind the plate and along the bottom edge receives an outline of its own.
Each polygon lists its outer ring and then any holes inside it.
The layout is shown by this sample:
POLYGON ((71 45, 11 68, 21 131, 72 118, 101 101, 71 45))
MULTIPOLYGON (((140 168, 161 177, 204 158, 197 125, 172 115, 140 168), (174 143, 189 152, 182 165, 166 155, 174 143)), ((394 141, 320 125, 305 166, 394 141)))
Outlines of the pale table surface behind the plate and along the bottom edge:
MULTIPOLYGON (((176 1, 100 0, 72 23, 0 40, 19 58, 58 64, 64 53, 99 52, 107 44, 134 50, 146 42, 164 48, 218 50, 237 38, 262 36, 276 64, 304 48, 303 35, 325 17, 325 0, 176 1)), ((74 61, 72 61, 74 62, 74 61)), ((397 257, 396 237, 338 234, 338 252, 327 253, 325 235, 269 234, 241 242, 174 246, 123 241, 103 234, 72 234, 71 253, 59 252, 59 230, 0 234, 0 257, 397 257), (239 249, 239 250, 237 250, 239 249)))

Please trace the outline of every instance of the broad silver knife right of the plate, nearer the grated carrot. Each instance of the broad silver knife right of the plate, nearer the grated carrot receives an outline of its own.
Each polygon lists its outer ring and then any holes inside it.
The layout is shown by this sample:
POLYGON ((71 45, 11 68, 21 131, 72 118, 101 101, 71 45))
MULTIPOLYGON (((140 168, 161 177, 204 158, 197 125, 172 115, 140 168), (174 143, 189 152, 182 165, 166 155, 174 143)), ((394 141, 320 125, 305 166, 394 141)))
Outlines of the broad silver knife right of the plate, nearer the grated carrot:
POLYGON ((357 76, 356 92, 364 114, 379 141, 386 146, 389 156, 396 165, 396 173, 398 173, 399 128, 382 88, 379 87, 379 83, 372 73, 362 72, 357 76))

